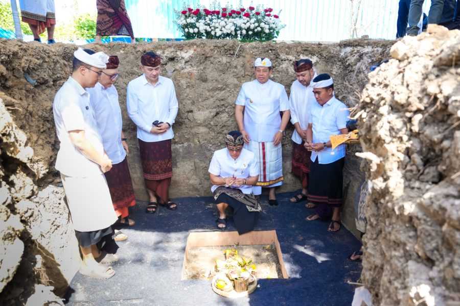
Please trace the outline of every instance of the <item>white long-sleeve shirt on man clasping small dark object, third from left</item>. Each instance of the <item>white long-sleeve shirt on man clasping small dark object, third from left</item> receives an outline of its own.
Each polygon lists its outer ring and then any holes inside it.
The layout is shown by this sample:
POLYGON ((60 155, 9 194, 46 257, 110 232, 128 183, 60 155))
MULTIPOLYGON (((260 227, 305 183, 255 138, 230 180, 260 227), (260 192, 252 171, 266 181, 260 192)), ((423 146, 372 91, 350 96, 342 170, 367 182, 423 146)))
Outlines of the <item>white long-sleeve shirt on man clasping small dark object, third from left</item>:
POLYGON ((171 79, 158 77, 155 85, 142 74, 128 83, 126 107, 131 120, 137 125, 137 138, 145 142, 156 142, 174 138, 172 125, 179 109, 176 90, 171 79), (152 134, 153 121, 171 124, 163 134, 152 134))

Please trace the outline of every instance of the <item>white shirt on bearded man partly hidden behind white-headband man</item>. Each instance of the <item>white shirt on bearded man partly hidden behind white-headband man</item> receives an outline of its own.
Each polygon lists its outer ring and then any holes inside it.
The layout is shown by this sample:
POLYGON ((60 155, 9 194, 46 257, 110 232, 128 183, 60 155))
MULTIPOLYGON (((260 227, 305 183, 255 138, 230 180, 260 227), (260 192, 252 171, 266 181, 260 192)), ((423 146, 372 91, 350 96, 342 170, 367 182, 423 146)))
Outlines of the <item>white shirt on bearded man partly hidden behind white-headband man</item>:
MULTIPOLYGON (((304 86, 295 80, 291 85, 291 93, 289 95, 291 123, 294 125, 298 122, 302 130, 307 130, 308 120, 310 119, 310 107, 313 103, 317 102, 315 95, 313 94, 313 87, 311 87, 311 83, 308 86, 304 86)), ((291 139, 297 144, 302 143, 302 137, 298 135, 296 130, 292 133, 291 139)))

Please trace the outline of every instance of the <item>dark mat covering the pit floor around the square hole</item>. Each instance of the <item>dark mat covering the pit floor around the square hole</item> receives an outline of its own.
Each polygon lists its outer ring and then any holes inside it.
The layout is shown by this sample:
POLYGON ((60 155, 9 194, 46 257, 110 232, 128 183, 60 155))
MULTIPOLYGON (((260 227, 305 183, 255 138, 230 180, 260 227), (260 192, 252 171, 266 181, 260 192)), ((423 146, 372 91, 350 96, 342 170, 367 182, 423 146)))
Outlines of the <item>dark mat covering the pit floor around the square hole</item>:
MULTIPOLYGON (((360 242, 342 227, 327 232, 327 222, 305 221, 310 213, 304 203, 292 204, 294 193, 278 195, 280 205, 268 206, 256 230, 276 230, 289 279, 261 279, 249 297, 227 299, 215 294, 210 281, 181 281, 183 252, 191 231, 214 231, 217 218, 211 197, 177 198, 177 211, 161 208, 145 214, 146 202, 131 210, 136 225, 123 232, 120 261, 112 265, 116 275, 107 280, 77 273, 71 282, 67 305, 351 305, 361 272, 347 256, 360 242)), ((233 222, 227 223, 234 231, 233 222)))

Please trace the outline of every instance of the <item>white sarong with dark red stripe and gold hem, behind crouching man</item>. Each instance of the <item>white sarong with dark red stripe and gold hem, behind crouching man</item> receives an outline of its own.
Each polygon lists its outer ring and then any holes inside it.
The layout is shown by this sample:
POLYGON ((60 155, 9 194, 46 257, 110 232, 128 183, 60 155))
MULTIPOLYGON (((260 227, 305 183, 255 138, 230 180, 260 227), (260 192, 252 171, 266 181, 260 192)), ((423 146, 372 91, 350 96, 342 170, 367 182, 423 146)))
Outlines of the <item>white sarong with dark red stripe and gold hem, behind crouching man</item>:
POLYGON ((261 194, 262 187, 276 187, 283 185, 283 157, 281 143, 277 146, 273 142, 249 141, 244 144, 246 149, 254 152, 259 169, 259 181, 252 188, 254 194, 261 194))

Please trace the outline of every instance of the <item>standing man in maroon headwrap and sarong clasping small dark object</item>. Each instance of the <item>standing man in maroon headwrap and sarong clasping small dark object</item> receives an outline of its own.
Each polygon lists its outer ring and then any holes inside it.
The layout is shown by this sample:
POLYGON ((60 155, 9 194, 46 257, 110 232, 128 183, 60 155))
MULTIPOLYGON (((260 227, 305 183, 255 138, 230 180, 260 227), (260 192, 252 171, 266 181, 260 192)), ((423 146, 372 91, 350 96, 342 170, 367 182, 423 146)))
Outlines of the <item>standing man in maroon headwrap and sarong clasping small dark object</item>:
POLYGON ((127 87, 128 115, 137 125, 144 180, 150 196, 146 212, 151 214, 156 212, 157 200, 169 210, 177 209, 176 203, 169 200, 169 186, 172 125, 179 107, 174 83, 160 75, 161 63, 159 55, 145 53, 141 57, 143 74, 127 87))

